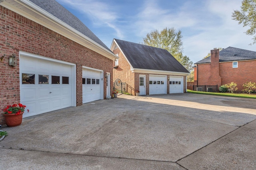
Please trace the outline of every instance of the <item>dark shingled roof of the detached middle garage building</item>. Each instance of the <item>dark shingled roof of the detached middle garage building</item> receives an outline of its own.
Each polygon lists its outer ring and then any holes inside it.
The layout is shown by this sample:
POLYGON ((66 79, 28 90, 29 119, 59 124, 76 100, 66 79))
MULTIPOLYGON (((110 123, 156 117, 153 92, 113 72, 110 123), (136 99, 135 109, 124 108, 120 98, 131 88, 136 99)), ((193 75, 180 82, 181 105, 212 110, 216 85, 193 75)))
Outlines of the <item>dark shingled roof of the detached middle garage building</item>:
POLYGON ((133 68, 189 73, 166 49, 114 40, 133 68))

